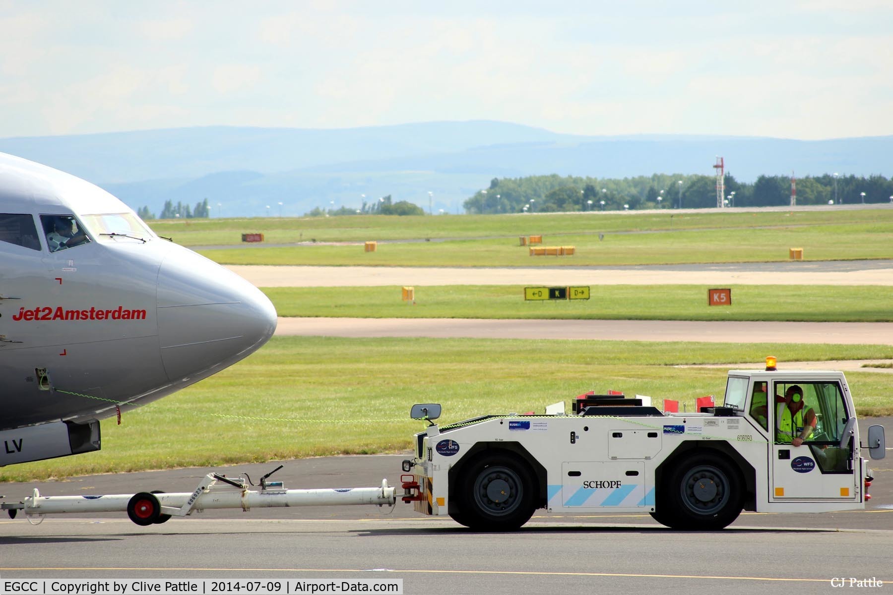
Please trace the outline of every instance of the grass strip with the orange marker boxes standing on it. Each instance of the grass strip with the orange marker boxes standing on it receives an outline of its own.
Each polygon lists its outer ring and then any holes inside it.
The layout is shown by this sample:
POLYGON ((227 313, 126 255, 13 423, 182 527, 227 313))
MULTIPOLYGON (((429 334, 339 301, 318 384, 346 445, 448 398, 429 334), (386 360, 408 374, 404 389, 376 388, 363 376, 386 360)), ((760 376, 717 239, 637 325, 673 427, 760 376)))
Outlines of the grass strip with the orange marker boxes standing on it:
MULTIPOLYGON (((371 239, 375 239, 374 237, 371 239)), ((854 223, 804 226, 673 230, 544 236, 543 245, 571 245, 572 256, 531 257, 517 237, 379 244, 313 244, 270 248, 198 250, 222 264, 303 264, 443 267, 561 267, 755 262, 788 260, 789 248, 803 248, 805 260, 883 259, 893 256, 893 225, 854 223)))

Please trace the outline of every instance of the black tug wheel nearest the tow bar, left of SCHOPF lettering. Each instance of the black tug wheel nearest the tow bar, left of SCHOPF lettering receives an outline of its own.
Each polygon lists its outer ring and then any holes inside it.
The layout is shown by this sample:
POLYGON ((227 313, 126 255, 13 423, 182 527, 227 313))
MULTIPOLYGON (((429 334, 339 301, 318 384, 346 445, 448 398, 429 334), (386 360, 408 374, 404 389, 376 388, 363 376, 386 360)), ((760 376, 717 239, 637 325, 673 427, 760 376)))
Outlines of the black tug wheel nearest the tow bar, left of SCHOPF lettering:
POLYGON ((483 454, 459 478, 456 522, 475 531, 514 531, 533 516, 536 475, 509 452, 483 454))

